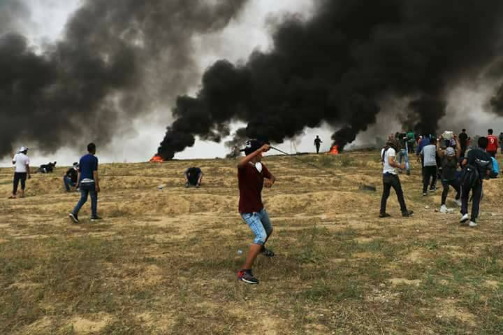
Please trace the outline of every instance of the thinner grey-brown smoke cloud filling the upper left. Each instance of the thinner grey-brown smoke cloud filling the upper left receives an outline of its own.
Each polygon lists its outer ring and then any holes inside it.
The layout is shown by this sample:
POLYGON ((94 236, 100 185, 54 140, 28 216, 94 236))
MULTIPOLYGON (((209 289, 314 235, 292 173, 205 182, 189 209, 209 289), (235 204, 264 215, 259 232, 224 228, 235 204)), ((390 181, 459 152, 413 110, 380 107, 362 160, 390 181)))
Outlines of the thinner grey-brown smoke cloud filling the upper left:
POLYGON ((42 52, 17 32, 26 6, 1 1, 0 156, 12 143, 103 144, 169 106, 198 80, 192 38, 226 27, 246 1, 86 0, 42 52))

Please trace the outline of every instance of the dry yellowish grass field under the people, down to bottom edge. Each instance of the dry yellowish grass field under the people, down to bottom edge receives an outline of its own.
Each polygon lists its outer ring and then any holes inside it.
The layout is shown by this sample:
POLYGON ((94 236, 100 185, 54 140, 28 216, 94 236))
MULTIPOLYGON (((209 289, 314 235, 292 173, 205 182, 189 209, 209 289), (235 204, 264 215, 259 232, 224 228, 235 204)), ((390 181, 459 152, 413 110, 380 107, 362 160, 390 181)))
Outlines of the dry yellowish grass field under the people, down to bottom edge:
POLYGON ((81 224, 66 169, 16 200, 0 169, 0 334, 503 334, 503 179, 470 229, 435 211, 440 190, 422 197, 418 164, 401 176, 414 218, 392 192, 379 219, 378 152, 301 158, 335 175, 265 157, 276 257, 258 257, 260 285, 236 280, 252 236, 233 160, 103 164, 103 220, 86 204, 81 224), (201 189, 183 187, 189 166, 201 189))

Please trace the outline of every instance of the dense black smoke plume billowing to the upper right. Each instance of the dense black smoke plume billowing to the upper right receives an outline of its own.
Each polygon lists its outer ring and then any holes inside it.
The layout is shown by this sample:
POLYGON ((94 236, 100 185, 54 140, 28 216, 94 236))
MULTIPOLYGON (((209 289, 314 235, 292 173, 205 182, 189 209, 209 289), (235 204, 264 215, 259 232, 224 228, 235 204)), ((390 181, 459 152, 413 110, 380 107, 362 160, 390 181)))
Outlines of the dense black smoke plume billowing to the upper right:
POLYGON ((390 97, 409 99, 406 124, 435 133, 449 90, 500 57, 502 19, 500 0, 319 1, 311 20, 279 24, 272 51, 207 69, 197 96, 177 99, 159 153, 172 158, 194 136, 218 141, 235 120, 279 143, 328 122, 345 145, 390 97))

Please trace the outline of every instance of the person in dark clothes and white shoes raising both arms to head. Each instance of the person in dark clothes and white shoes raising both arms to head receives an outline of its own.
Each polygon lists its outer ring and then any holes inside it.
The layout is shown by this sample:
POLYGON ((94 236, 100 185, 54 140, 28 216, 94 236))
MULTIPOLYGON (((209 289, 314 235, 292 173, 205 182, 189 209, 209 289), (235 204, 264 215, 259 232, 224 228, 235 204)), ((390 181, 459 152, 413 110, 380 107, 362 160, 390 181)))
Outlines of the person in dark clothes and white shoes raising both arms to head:
POLYGON ((458 160, 461 155, 461 144, 458 138, 454 135, 456 148, 447 147, 445 150, 440 147, 441 141, 437 142, 437 155, 442 162, 442 204, 440 206, 440 213, 447 213, 446 199, 449 194, 449 187, 453 187, 456 192, 455 204, 461 207, 461 187, 459 185, 456 172, 458 170, 458 160))

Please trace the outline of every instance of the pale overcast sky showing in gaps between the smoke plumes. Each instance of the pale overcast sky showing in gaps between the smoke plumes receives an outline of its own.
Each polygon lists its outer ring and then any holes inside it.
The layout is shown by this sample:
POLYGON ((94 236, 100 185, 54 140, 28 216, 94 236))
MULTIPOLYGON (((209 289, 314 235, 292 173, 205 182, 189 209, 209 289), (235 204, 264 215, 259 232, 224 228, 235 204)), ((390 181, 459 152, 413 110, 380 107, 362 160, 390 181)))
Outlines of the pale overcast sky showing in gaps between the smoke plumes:
MULTIPOLYGON (((31 10, 31 20, 24 22, 22 32, 34 45, 43 45, 45 42, 61 38, 65 22, 68 16, 78 8, 80 0, 24 0, 24 2, 31 10)), ((199 71, 203 73, 204 69, 217 59, 226 58, 231 62, 238 62, 246 59, 256 48, 267 50, 271 43, 267 29, 271 18, 285 12, 300 13, 309 17, 312 13, 312 2, 312 0, 250 1, 240 17, 231 22, 224 31, 195 38, 197 54, 202 55, 199 59, 199 71)), ((197 88, 197 86, 193 87, 193 90, 187 93, 194 94, 197 88)), ((453 91, 451 95, 448 116, 440 121, 441 127, 455 132, 460 130, 458 128, 467 127, 472 133, 479 134, 485 134, 489 126, 494 127, 498 133, 500 129, 503 129, 502 118, 496 118, 482 111, 481 101, 486 98, 484 87, 470 87, 469 90, 460 88, 453 91), (460 109, 464 112, 463 115, 467 115, 466 120, 454 120, 451 117, 454 111, 460 109)), ((384 112, 378 115, 377 124, 359 134, 356 144, 374 143, 377 136, 386 136, 389 132, 399 129, 400 124, 395 117, 396 113, 393 113, 393 108, 400 108, 400 106, 383 108, 384 112)), ((166 106, 166 109, 158 111, 152 117, 132 120, 134 131, 115 136, 112 143, 104 148, 103 145, 97 143, 101 162, 145 162, 150 159, 164 136, 166 126, 173 121, 169 110, 170 106, 166 106)), ((238 126, 239 124, 235 124, 234 128, 237 129, 238 126)), ((323 139, 324 148, 328 149, 332 133, 333 129, 329 127, 306 129, 305 135, 296 138, 294 144, 298 151, 312 151, 314 150, 313 138, 319 135, 323 139)), ((85 152, 87 142, 87 138, 75 138, 74 147, 61 148, 50 157, 39 155, 36 143, 14 143, 14 145, 15 147, 20 145, 34 147, 30 152, 33 165, 49 161, 69 165, 85 152)), ((293 148, 291 141, 286 141, 279 147, 286 151, 293 148)), ((193 148, 180 152, 175 158, 224 157, 227 152, 223 143, 196 141, 193 148)), ((10 166, 10 159, 7 157, 1 159, 0 166, 10 166)))

